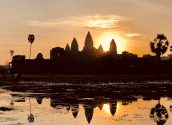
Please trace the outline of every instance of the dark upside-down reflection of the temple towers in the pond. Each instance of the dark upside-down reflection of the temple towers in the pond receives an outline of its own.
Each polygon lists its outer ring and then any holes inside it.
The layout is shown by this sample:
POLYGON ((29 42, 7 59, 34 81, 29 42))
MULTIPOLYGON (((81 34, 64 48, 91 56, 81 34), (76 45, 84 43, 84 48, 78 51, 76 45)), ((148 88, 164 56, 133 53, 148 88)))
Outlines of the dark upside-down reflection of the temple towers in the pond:
MULTIPOLYGON (((40 100, 37 100, 38 104, 39 104, 39 101, 40 100)), ((112 116, 114 116, 117 109, 117 101, 108 102, 107 104, 109 105, 109 109, 106 109, 106 110, 109 110, 112 116)), ((101 102, 99 100, 96 102, 95 100, 92 100, 92 99, 84 99, 77 103, 77 102, 67 102, 67 101, 63 102, 58 99, 51 98, 50 105, 51 107, 57 110, 66 109, 68 112, 71 110, 74 118, 77 118, 77 115, 80 109, 79 105, 82 105, 82 107, 84 108, 86 120, 88 123, 90 123, 94 115, 94 108, 98 107, 100 110, 102 110, 103 101, 101 102)))

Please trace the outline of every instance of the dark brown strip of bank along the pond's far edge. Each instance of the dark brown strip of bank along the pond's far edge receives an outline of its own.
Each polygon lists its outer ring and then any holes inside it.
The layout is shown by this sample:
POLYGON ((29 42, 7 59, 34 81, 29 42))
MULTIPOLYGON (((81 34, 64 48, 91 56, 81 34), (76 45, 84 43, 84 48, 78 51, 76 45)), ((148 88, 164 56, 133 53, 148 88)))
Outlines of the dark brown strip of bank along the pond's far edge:
POLYGON ((11 75, 8 75, 5 79, 0 77, 0 86, 13 86, 22 85, 24 82, 30 84, 53 83, 54 85, 60 85, 61 83, 67 84, 110 84, 110 83, 123 83, 124 85, 133 84, 172 84, 172 75, 155 75, 155 74, 133 74, 133 75, 22 75, 19 81, 14 81, 11 75), (35 83, 34 83, 35 82, 35 83))

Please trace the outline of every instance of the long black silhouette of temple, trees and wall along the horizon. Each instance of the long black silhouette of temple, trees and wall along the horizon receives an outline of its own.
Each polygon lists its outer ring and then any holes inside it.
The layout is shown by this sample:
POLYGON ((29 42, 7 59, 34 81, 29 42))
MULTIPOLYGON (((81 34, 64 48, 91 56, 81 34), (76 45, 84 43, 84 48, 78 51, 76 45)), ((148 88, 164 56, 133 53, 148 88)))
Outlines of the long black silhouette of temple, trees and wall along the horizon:
POLYGON ((65 48, 54 47, 50 59, 38 53, 35 59, 16 55, 11 62, 11 72, 20 74, 171 74, 172 59, 159 61, 156 56, 138 57, 127 51, 118 54, 115 39, 110 42, 109 51, 102 45, 97 49, 91 33, 88 32, 84 47, 79 51, 77 39, 65 48))

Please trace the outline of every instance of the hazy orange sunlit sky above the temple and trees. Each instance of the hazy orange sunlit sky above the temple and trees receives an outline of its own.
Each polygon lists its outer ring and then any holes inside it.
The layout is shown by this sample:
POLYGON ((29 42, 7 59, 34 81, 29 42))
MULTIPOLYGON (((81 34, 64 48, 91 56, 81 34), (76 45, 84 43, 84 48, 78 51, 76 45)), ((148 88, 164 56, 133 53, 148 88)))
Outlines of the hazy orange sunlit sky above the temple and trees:
POLYGON ((10 50, 29 57, 28 34, 35 35, 32 58, 49 58, 74 37, 82 50, 88 31, 105 51, 114 38, 118 53, 151 54, 157 33, 172 45, 171 0, 0 0, 0 16, 0 64, 11 60, 10 50))

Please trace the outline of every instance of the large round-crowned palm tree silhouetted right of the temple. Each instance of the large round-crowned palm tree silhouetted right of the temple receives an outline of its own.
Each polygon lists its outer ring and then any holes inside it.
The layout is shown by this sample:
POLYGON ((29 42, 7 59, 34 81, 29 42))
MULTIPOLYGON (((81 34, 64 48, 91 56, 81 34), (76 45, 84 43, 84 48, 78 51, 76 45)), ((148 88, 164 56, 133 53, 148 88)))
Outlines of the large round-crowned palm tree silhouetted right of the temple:
POLYGON ((168 46, 169 42, 164 34, 157 34, 154 41, 150 42, 151 51, 155 53, 159 59, 161 59, 161 55, 167 51, 168 46))

